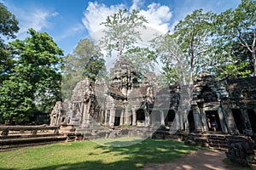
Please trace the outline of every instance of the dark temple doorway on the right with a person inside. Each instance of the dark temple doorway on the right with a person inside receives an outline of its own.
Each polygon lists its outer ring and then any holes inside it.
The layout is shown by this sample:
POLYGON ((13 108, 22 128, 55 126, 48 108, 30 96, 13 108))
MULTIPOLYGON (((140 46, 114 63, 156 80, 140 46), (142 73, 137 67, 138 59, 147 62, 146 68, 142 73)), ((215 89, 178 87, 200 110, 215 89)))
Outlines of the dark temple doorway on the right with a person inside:
POLYGON ((209 131, 214 131, 214 127, 216 131, 221 131, 218 111, 206 111, 206 116, 209 131))

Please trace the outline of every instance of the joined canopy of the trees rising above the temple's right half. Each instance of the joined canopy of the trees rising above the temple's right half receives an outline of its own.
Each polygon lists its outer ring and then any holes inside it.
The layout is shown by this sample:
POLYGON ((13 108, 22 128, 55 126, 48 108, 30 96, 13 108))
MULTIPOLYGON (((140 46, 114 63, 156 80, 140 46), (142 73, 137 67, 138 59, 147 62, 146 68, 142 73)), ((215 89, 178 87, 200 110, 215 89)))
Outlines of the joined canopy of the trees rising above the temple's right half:
POLYGON ((189 79, 191 84, 201 71, 218 78, 255 76, 255 14, 253 0, 242 0, 237 8, 221 14, 197 9, 173 32, 154 38, 152 47, 164 63, 166 82, 189 79))

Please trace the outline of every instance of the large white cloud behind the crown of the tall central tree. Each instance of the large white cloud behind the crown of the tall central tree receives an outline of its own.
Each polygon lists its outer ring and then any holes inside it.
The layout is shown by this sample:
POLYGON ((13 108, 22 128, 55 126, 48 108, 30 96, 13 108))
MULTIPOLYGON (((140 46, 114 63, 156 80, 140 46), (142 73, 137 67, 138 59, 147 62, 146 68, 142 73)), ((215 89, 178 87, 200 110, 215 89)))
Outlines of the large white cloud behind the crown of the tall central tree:
POLYGON ((169 7, 160 5, 160 3, 151 3, 146 9, 141 9, 142 7, 143 1, 140 0, 133 0, 131 7, 125 7, 122 3, 108 7, 103 3, 90 2, 84 11, 84 18, 82 21, 88 30, 90 37, 98 40, 102 37, 102 30, 105 29, 100 23, 105 21, 107 16, 118 12, 119 8, 129 8, 130 10, 140 10, 140 13, 148 20, 148 23, 146 24, 148 29, 143 31, 142 35, 144 41, 153 38, 154 33, 156 32, 166 33, 166 31, 169 30, 168 23, 172 18, 172 12, 169 7))

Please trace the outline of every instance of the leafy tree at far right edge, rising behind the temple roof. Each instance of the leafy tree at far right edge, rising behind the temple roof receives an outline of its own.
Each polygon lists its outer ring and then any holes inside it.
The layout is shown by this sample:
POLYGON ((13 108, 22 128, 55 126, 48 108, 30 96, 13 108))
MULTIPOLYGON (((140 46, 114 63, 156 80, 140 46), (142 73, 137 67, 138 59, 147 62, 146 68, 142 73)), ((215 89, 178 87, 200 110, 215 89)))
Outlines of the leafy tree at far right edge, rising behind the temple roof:
MULTIPOLYGON (((231 74, 231 70, 238 71, 237 76, 247 75, 244 71, 249 62, 236 62, 237 53, 242 49, 242 53, 247 56, 247 60, 253 59, 253 76, 256 76, 256 2, 254 0, 242 0, 237 8, 228 9, 217 15, 215 26, 215 53, 219 55, 220 65, 217 69, 222 71, 226 67, 226 76, 231 74), (236 48, 236 49, 235 49, 236 48), (239 74, 241 71, 241 74, 239 74)), ((241 55, 238 55, 241 57, 241 55)))

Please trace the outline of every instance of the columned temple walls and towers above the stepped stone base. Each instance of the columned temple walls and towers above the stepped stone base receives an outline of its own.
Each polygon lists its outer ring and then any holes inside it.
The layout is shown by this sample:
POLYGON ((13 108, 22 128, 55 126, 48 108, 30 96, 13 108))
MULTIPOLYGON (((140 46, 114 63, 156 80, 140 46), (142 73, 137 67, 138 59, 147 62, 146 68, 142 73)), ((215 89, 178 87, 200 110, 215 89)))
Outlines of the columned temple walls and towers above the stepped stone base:
MULTIPOLYGON (((152 75, 138 75, 125 59, 116 62, 108 81, 94 83, 85 78, 79 82, 70 100, 56 103, 50 124, 172 127, 181 105, 180 87, 155 86, 152 75)), ((186 115, 180 127, 184 131, 256 133, 256 78, 218 81, 202 72, 195 77, 191 109, 186 115)))

